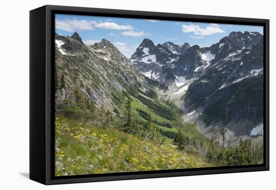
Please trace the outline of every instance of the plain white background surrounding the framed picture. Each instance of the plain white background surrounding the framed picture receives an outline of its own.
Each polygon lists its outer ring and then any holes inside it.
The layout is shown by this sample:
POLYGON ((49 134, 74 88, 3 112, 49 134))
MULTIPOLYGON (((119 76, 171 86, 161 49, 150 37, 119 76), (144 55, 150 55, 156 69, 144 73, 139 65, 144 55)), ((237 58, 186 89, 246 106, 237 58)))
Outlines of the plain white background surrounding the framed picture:
MULTIPOLYGON (((273 1, 40 0, 1 4, 0 188, 28 189, 272 189, 275 186, 275 84, 273 1), (44 186, 29 172, 29 11, 43 5, 125 9, 270 19, 270 171, 44 186), (273 135, 273 136, 272 136, 273 135), (274 174, 274 177, 273 177, 274 174)), ((275 188, 275 187, 274 187, 275 188)))

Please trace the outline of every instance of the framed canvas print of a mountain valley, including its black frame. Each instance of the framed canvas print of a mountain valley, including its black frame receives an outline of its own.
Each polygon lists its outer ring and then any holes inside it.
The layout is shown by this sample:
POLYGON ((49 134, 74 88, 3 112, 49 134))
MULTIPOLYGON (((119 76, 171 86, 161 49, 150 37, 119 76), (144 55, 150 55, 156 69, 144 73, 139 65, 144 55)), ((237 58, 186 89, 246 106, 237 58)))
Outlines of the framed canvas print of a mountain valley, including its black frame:
POLYGON ((269 21, 30 12, 30 178, 269 169, 269 21))

